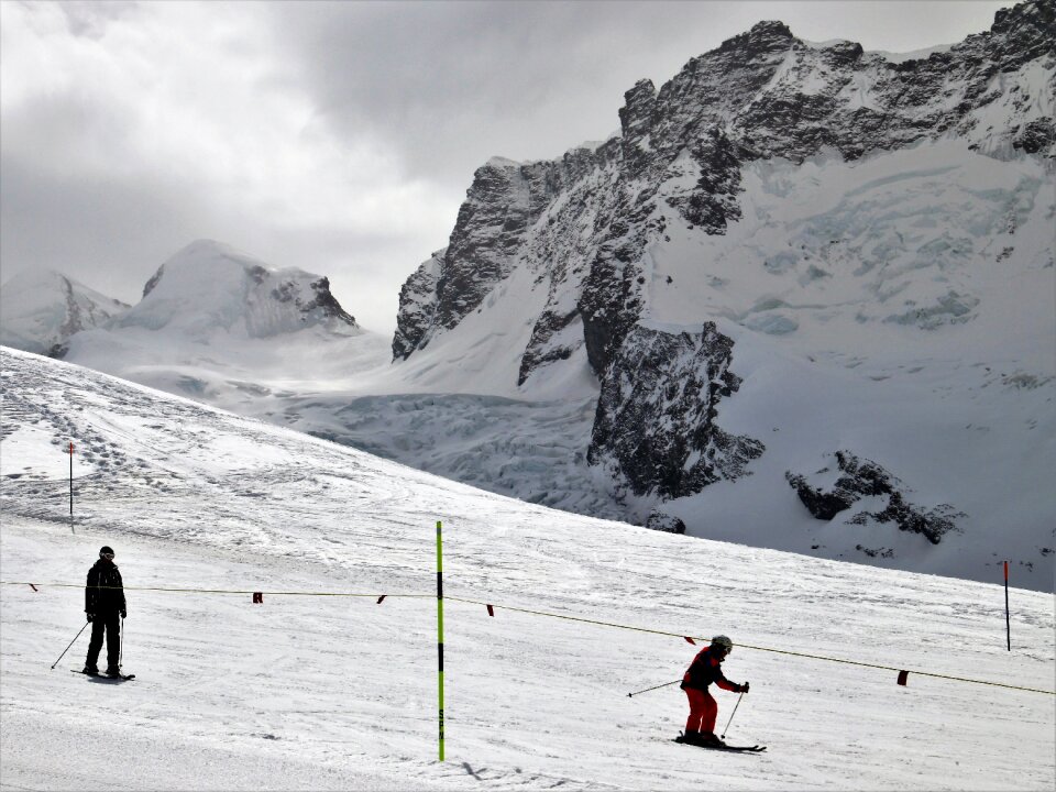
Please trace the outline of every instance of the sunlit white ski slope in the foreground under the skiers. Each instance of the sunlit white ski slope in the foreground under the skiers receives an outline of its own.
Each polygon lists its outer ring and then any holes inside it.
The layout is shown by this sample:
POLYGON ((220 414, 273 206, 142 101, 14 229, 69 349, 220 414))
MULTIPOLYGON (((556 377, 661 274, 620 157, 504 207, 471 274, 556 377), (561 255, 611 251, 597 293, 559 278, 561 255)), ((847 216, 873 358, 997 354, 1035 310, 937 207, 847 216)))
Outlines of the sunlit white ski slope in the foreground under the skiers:
MULTIPOLYGON (((1052 785, 1048 594, 1013 587, 1008 651, 998 585, 552 512, 66 363, 4 349, 0 370, 6 789, 1052 785), (84 635, 48 670, 103 543, 120 686, 68 672, 84 635), (626 695, 719 631, 751 682, 727 738, 761 756, 671 743, 674 684, 626 695)), ((722 729, 737 698, 716 695, 722 729)))

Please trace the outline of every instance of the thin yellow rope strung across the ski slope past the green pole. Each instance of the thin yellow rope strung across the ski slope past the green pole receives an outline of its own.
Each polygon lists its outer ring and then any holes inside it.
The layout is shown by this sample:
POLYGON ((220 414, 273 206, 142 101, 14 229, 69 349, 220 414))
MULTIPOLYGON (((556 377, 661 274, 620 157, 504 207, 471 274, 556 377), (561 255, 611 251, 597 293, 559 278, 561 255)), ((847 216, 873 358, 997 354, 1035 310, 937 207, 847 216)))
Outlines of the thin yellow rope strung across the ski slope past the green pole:
MULTIPOLYGON (((28 585, 28 586, 32 587, 34 591, 36 591, 38 586, 40 586, 40 587, 51 586, 51 587, 53 587, 53 588, 84 588, 84 587, 85 587, 82 584, 77 584, 77 583, 30 583, 30 582, 28 582, 28 581, 0 581, 0 585, 16 585, 16 586, 26 586, 26 585, 28 585)), ((117 588, 118 586, 99 586, 99 587, 100 587, 100 588, 117 588)), ((381 603, 382 600, 386 600, 386 598, 389 598, 389 597, 392 597, 392 598, 396 598, 396 597, 402 597, 402 598, 419 598, 419 600, 426 600, 426 598, 428 598, 428 600, 435 600, 435 598, 436 598, 436 594, 376 594, 376 593, 370 594, 370 593, 359 593, 359 592, 304 592, 304 591, 263 591, 263 592, 262 592, 262 591, 253 591, 253 590, 249 590, 249 588, 246 588, 246 590, 235 590, 235 588, 169 588, 169 587, 157 587, 157 586, 123 586, 123 588, 124 588, 124 591, 167 592, 167 593, 186 593, 186 594, 189 594, 189 593, 194 593, 194 594, 252 594, 252 595, 256 595, 256 594, 267 594, 267 595, 270 595, 270 596, 374 597, 374 598, 377 600, 378 603, 381 603)), ((531 615, 531 616, 542 616, 542 617, 546 617, 546 618, 563 619, 563 620, 565 620, 565 622, 579 622, 579 623, 582 623, 582 624, 596 625, 596 626, 598 626, 598 627, 610 627, 610 628, 614 628, 614 629, 631 630, 631 631, 635 631, 635 632, 648 632, 648 634, 650 634, 650 635, 669 636, 669 637, 672 637, 672 638, 682 638, 682 639, 692 638, 692 639, 694 639, 694 640, 700 640, 700 641, 703 641, 703 642, 705 642, 705 644, 707 644, 707 642, 711 640, 710 638, 705 638, 705 637, 701 637, 701 636, 686 636, 686 635, 683 635, 682 632, 670 632, 670 631, 668 631, 668 630, 649 629, 649 628, 647 628, 647 627, 635 627, 635 626, 632 626, 632 625, 618 624, 618 623, 616 623, 616 622, 602 622, 602 620, 600 620, 600 619, 590 619, 590 618, 585 618, 585 617, 583 617, 583 616, 566 616, 566 615, 563 615, 563 614, 548 613, 548 612, 546 612, 546 610, 532 610, 532 609, 530 609, 530 608, 521 608, 521 607, 514 607, 514 606, 509 606, 509 605, 501 605, 501 604, 495 604, 495 603, 487 603, 487 602, 484 602, 483 600, 466 600, 466 598, 464 598, 464 597, 452 597, 452 596, 446 596, 444 600, 447 600, 448 602, 459 602, 459 603, 465 603, 465 604, 469 604, 469 605, 483 605, 483 606, 485 606, 485 607, 488 608, 488 613, 490 613, 490 614, 493 613, 493 608, 503 608, 503 609, 505 609, 505 610, 512 610, 512 612, 514 612, 514 613, 522 613, 522 614, 528 614, 528 615, 531 615)), ((880 666, 880 664, 877 664, 877 663, 867 663, 867 662, 861 662, 861 661, 858 661, 858 660, 845 660, 845 659, 843 659, 843 658, 827 657, 827 656, 825 656, 825 654, 809 654, 809 653, 806 653, 806 652, 792 651, 792 650, 789 650, 789 649, 774 649, 774 648, 772 648, 772 647, 754 646, 754 645, 751 645, 751 644, 740 644, 740 642, 738 642, 738 644, 737 644, 737 647, 738 647, 738 648, 741 648, 741 649, 754 649, 755 651, 771 652, 771 653, 774 653, 774 654, 785 654, 785 656, 789 656, 789 657, 805 658, 805 659, 809 659, 809 660, 821 660, 821 661, 825 661, 825 662, 840 663, 840 664, 844 664, 844 666, 858 666, 858 667, 860 667, 860 668, 869 668, 869 669, 876 669, 876 670, 880 670, 880 671, 898 671, 898 672, 901 673, 902 671, 905 670, 905 669, 895 668, 895 667, 893 667, 893 666, 880 666)), ((909 673, 917 674, 917 675, 920 675, 920 676, 930 676, 930 678, 932 678, 932 679, 943 679, 943 680, 948 680, 948 681, 953 681, 953 682, 967 682, 967 683, 969 683, 969 684, 988 685, 988 686, 991 686, 991 688, 1004 688, 1004 689, 1008 689, 1008 690, 1016 690, 1016 691, 1022 691, 1022 692, 1026 692, 1026 693, 1042 693, 1042 694, 1044 694, 1044 695, 1056 695, 1056 691, 1041 690, 1041 689, 1038 689, 1038 688, 1025 688, 1025 686, 1022 686, 1022 685, 1005 684, 1005 683, 1003 683, 1003 682, 990 682, 990 681, 987 681, 987 680, 969 679, 969 678, 967 678, 967 676, 953 676, 953 675, 949 675, 949 674, 932 673, 932 672, 930 672, 930 671, 909 671, 909 673)))

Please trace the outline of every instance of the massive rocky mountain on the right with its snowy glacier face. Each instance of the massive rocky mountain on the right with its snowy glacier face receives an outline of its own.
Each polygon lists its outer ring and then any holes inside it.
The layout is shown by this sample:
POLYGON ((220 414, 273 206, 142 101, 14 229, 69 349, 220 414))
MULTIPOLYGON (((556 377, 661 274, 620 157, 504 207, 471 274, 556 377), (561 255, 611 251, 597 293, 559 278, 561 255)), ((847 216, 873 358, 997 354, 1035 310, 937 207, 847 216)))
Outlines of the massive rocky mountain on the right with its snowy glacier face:
MULTIPOLYGON (((981 471, 1052 460, 1054 9, 899 56, 759 22, 638 80, 603 145, 492 160, 404 286, 395 369, 537 400, 588 380, 590 441, 562 433, 647 525, 981 569, 1000 522, 1050 575, 1056 504, 981 471), (833 483, 793 482, 833 459, 882 502, 811 510, 833 483)), ((491 484, 570 503, 525 472, 548 462, 491 484)))

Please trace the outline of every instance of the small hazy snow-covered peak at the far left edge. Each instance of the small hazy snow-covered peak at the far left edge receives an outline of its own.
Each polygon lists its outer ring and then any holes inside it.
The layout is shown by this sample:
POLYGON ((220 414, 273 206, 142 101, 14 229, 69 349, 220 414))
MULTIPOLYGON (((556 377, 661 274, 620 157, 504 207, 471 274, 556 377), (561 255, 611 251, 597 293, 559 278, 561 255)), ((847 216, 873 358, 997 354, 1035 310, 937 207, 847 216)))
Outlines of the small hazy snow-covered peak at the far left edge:
POLYGON ((0 343, 61 354, 70 336, 105 324, 127 308, 51 270, 26 271, 0 287, 0 343))

